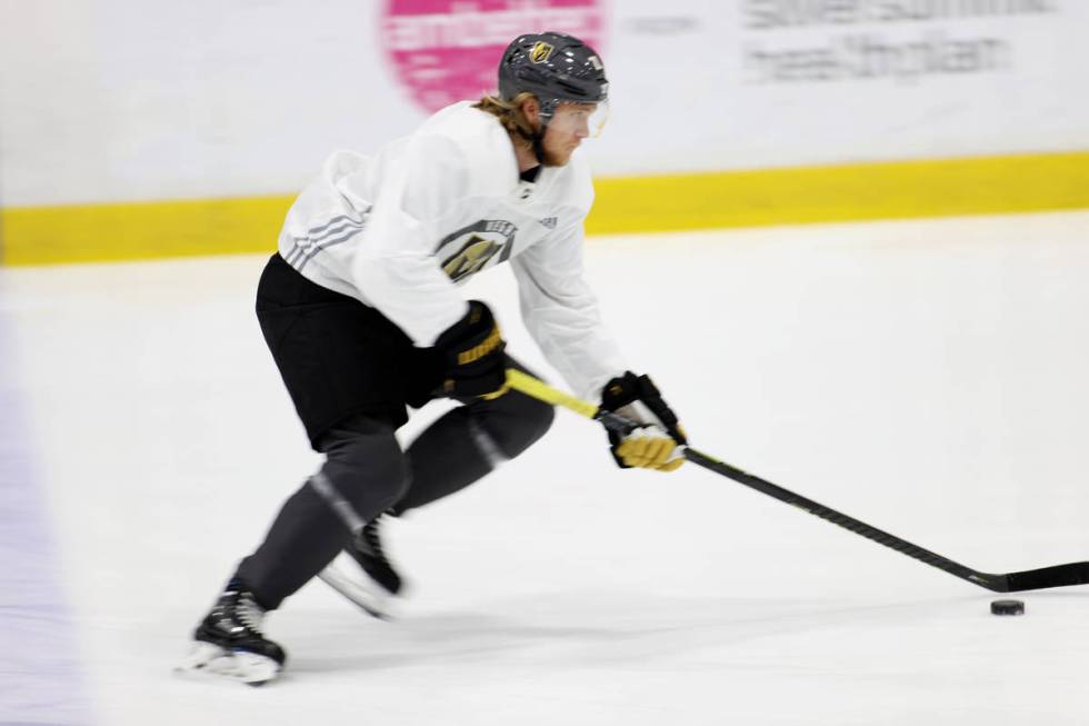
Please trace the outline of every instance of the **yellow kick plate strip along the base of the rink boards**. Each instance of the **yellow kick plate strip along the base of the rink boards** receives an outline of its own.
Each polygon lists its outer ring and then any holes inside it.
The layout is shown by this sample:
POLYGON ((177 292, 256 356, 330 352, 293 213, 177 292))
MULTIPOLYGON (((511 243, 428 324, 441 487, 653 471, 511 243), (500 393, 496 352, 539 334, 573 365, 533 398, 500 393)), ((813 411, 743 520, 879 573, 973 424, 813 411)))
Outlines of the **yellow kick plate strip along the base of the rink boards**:
MULTIPOLYGON (((605 178, 591 235, 1089 208, 1089 151, 605 178)), ((291 196, 0 209, 0 262, 270 252, 291 196)))

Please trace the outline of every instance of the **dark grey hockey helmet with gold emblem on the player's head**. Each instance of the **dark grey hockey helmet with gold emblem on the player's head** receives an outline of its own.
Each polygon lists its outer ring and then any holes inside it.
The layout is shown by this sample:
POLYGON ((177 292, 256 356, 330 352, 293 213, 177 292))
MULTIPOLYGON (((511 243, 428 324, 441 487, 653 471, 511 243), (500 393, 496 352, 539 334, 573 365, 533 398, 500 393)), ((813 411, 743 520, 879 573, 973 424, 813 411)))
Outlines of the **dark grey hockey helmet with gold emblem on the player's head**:
POLYGON ((499 61, 499 97, 510 101, 522 91, 537 97, 547 125, 563 101, 607 101, 609 81, 598 53, 578 38, 528 33, 516 38, 499 61))

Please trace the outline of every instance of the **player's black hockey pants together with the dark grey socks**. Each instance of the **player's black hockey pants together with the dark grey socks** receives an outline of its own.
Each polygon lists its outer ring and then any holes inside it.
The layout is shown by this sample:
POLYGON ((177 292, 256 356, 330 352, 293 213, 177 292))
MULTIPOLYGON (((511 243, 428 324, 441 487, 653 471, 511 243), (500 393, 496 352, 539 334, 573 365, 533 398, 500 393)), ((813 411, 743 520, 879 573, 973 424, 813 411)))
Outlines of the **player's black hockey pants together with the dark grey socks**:
POLYGON ((402 451, 394 431, 406 407, 422 406, 440 380, 431 349, 414 348, 377 310, 314 285, 279 255, 261 276, 257 314, 311 445, 326 456, 239 566, 268 608, 320 573, 363 523, 469 486, 552 422, 550 406, 517 391, 466 399, 402 451))

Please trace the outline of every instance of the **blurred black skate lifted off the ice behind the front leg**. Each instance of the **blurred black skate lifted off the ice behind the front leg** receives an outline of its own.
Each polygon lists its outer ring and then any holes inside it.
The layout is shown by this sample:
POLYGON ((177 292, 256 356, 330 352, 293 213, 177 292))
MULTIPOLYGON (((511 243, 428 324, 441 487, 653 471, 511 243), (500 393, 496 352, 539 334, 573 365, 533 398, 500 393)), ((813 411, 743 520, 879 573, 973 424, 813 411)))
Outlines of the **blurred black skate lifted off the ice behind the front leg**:
POLYGON ((383 517, 379 515, 367 523, 352 544, 318 577, 369 615, 389 619, 403 583, 382 549, 383 517))

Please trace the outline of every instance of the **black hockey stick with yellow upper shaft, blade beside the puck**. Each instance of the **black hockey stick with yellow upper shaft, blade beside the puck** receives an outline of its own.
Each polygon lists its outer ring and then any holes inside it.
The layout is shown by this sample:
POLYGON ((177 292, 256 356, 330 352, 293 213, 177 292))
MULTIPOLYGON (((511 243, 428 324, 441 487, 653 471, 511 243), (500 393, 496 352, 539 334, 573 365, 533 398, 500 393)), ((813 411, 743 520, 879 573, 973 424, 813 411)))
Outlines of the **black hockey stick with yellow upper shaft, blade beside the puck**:
MULTIPOLYGON (((552 404, 553 406, 561 406, 580 414, 581 416, 600 421, 606 426, 606 428, 616 431, 630 431, 635 427, 632 421, 623 418, 622 416, 617 416, 611 411, 603 411, 593 404, 575 398, 573 396, 565 394, 561 390, 557 390, 544 381, 538 380, 537 378, 528 376, 519 370, 507 370, 507 384, 514 390, 519 390, 527 396, 552 404)), ((826 507, 825 505, 813 501, 812 499, 807 499, 806 497, 795 494, 789 489, 783 489, 776 484, 771 484, 770 481, 761 479, 760 477, 749 474, 748 471, 730 466, 725 461, 719 461, 718 459, 697 451, 691 447, 685 446, 679 448, 682 450, 685 458, 697 466, 701 466, 705 469, 710 469, 711 471, 732 479, 738 484, 743 484, 745 486, 766 494, 769 497, 775 497, 779 501, 785 501, 789 505, 798 507, 802 511, 807 511, 813 516, 820 517, 821 519, 827 519, 833 525, 839 525, 843 529, 852 531, 856 535, 861 535, 867 539, 872 539, 880 545, 895 549, 901 555, 913 557, 915 559, 926 563, 931 567, 937 567, 938 569, 945 570, 950 575, 959 577, 960 579, 968 580, 973 585, 978 585, 979 587, 987 588, 995 593, 1020 593, 1023 590, 1038 590, 1048 587, 1066 587, 1069 585, 1089 584, 1089 561, 1055 565, 1052 567, 1041 567, 1039 569, 1027 569, 1020 573, 981 573, 972 569, 971 567, 966 567, 965 565, 955 563, 953 560, 942 557, 941 555, 937 555, 929 549, 923 549, 918 545, 912 545, 908 540, 900 539, 899 537, 890 535, 887 531, 882 531, 877 527, 871 527, 865 521, 859 521, 853 517, 836 511, 831 507, 826 507)))

